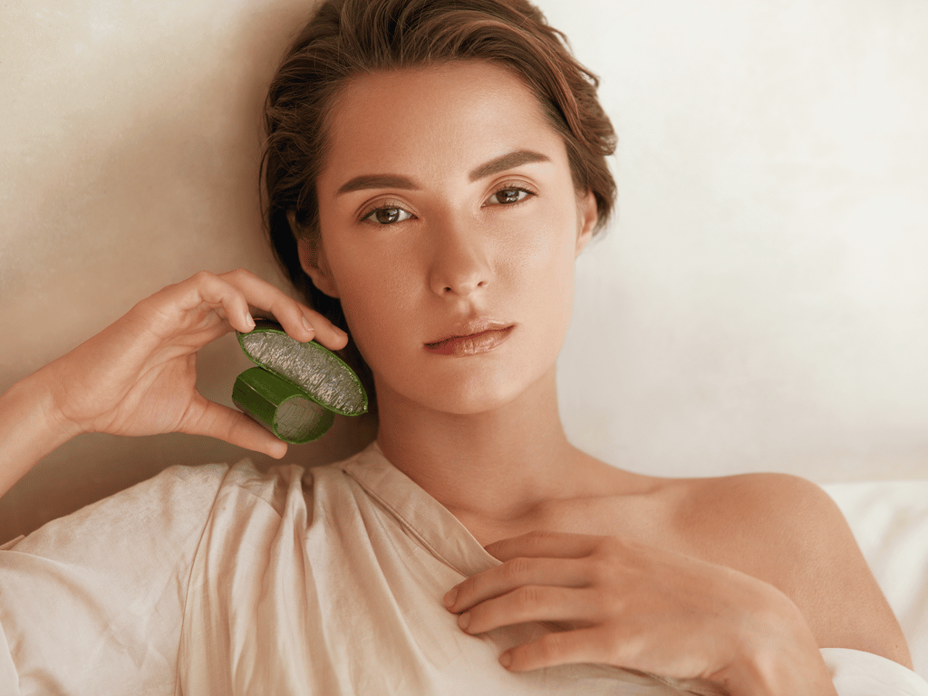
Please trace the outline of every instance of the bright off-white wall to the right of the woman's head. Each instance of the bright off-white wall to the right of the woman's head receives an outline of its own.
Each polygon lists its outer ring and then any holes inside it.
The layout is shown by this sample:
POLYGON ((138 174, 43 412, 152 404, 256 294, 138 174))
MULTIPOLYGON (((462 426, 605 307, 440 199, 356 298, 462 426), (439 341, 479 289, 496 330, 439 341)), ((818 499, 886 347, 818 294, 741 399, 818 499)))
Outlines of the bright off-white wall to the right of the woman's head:
POLYGON ((670 475, 928 476, 928 4, 582 5, 549 19, 595 25, 622 144, 569 431, 670 475))

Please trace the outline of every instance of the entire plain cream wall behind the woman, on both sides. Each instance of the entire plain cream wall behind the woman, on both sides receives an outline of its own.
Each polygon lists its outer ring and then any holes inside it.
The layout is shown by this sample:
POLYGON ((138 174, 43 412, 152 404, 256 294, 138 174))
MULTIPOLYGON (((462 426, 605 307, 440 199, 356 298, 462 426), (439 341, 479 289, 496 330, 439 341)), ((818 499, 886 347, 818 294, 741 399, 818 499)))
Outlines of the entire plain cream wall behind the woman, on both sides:
MULTIPOLYGON (((928 477, 928 3, 540 5, 621 138, 617 216, 578 262, 559 366, 574 443, 670 476, 928 477)), ((281 282, 261 104, 311 6, 0 5, 0 390, 202 268, 281 282)), ((201 391, 230 404, 245 367, 214 343, 201 391)), ((370 426, 340 419, 288 460, 347 456, 370 426)), ((84 435, 0 501, 0 541, 164 466, 246 455, 84 435)))

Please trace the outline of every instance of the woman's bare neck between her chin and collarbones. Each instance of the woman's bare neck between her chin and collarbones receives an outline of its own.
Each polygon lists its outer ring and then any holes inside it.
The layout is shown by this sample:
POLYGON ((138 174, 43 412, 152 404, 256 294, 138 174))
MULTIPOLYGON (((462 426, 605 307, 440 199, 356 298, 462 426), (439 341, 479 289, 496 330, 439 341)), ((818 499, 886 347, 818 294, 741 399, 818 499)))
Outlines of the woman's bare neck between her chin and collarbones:
POLYGON ((555 368, 505 406, 474 415, 438 412, 378 385, 378 445, 445 508, 507 521, 577 495, 586 456, 567 442, 555 368))

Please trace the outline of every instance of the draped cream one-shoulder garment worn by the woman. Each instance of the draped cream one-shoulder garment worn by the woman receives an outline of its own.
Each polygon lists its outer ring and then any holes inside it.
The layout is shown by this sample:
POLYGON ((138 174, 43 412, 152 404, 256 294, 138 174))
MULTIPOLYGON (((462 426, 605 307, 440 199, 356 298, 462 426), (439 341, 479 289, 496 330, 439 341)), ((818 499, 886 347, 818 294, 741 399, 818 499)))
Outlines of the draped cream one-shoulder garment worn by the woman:
MULTIPOLYGON (((0 694, 678 692, 605 666, 504 670, 546 628, 471 637, 441 601, 497 562, 376 445, 309 471, 173 467, 0 551, 0 694)), ((853 685, 865 653, 839 652, 853 685)), ((871 693, 928 689, 842 690, 871 693)))

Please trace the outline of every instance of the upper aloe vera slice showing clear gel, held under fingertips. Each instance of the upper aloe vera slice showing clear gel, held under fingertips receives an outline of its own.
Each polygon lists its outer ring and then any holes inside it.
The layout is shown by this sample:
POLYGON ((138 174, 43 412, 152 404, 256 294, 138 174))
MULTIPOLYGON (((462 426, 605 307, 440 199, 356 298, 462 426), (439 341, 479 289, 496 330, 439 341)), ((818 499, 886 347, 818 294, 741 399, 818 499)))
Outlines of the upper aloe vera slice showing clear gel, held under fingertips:
POLYGON ((280 325, 258 321, 248 333, 238 333, 241 349, 264 369, 298 384, 317 404, 342 416, 367 411, 367 392, 342 358, 315 341, 291 339, 280 325))

